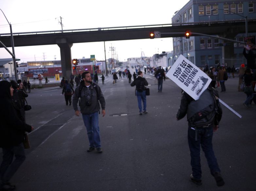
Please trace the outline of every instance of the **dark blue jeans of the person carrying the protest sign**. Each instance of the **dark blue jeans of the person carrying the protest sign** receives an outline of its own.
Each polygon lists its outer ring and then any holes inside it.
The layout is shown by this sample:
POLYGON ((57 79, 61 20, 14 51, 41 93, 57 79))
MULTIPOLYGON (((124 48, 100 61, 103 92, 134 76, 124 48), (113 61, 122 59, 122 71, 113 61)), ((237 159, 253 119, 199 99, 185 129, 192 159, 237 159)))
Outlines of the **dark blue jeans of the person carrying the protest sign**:
POLYGON ((201 179, 200 145, 207 159, 211 174, 220 172, 217 159, 213 152, 213 127, 197 129, 197 141, 195 140, 196 130, 188 128, 188 145, 191 156, 192 174, 195 179, 201 179))

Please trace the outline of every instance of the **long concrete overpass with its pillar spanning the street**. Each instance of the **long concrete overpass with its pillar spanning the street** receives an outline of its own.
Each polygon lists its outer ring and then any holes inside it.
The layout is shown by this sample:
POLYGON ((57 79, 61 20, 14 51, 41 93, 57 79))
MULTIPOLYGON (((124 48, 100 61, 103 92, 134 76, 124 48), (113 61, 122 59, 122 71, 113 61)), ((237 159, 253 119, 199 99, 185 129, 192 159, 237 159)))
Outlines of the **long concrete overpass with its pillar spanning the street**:
MULTIPOLYGON (((169 33, 161 34, 161 38, 180 37, 184 36, 186 30, 190 30, 192 32, 192 36, 193 33, 202 33, 208 35, 219 35, 224 38, 233 39, 237 34, 245 33, 245 21, 224 20, 144 26, 38 31, 13 33, 13 39, 15 47, 57 44, 60 47, 63 76, 68 77, 72 73, 71 47, 73 46, 73 43, 147 39, 149 38, 149 33, 151 31, 169 33)), ((248 20, 248 33, 255 32, 256 20, 248 20)), ((10 34, 0 34, 0 41, 6 47, 11 47, 10 34)), ((230 47, 223 48, 224 52, 230 52, 230 47)))

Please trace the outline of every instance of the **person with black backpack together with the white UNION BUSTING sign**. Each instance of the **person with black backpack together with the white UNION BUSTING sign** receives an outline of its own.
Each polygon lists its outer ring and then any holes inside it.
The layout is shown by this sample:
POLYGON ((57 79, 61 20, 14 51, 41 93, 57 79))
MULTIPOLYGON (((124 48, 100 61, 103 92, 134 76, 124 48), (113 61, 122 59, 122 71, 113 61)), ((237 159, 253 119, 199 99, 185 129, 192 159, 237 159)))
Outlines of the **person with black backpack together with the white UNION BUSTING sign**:
POLYGON ((188 119, 188 143, 192 166, 190 180, 197 185, 202 184, 201 145, 217 186, 224 185, 212 144, 213 131, 218 130, 218 122, 222 116, 218 92, 211 87, 209 76, 182 55, 166 75, 183 89, 176 117, 180 120, 187 115, 188 119))

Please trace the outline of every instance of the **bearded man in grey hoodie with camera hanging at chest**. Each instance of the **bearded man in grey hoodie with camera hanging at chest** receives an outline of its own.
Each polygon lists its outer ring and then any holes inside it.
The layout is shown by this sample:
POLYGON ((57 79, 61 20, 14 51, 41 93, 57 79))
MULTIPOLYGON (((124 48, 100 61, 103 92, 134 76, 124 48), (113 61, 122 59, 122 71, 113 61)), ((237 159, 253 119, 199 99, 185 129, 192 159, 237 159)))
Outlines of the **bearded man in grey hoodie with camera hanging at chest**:
POLYGON ((92 82, 92 77, 89 72, 84 72, 82 74, 82 79, 83 80, 80 82, 80 85, 75 89, 73 96, 73 108, 76 116, 79 116, 81 111, 83 117, 90 143, 90 147, 87 152, 91 152, 96 148, 98 153, 102 153, 99 135, 99 111, 101 105, 102 116, 104 117, 105 99, 98 84, 92 82), (79 98, 80 111, 77 108, 79 98))

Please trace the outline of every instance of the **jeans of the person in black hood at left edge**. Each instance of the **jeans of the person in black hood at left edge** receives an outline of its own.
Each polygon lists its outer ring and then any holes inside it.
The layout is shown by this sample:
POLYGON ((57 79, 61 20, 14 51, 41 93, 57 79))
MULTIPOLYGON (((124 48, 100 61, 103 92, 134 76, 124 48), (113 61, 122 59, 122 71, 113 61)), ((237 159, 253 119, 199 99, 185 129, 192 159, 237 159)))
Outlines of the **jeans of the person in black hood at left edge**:
POLYGON ((26 156, 23 143, 19 144, 18 146, 11 146, 9 148, 2 149, 3 161, 0 166, 0 175, 2 183, 6 184, 25 161, 26 156), (15 159, 13 160, 14 156, 15 159))

